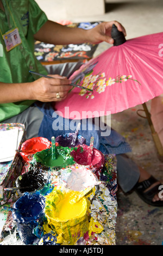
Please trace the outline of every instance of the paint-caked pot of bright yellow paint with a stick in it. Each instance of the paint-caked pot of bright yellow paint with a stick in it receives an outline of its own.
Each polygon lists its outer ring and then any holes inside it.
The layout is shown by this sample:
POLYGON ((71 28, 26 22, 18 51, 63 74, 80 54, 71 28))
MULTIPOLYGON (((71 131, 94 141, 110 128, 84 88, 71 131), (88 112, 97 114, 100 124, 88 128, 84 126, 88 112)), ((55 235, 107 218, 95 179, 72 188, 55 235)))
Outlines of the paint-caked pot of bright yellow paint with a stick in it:
MULTIPOLYGON (((86 190, 88 192, 90 190, 86 190)), ((45 215, 57 241, 74 245, 89 229, 88 203, 83 192, 55 187, 46 197, 45 215)))

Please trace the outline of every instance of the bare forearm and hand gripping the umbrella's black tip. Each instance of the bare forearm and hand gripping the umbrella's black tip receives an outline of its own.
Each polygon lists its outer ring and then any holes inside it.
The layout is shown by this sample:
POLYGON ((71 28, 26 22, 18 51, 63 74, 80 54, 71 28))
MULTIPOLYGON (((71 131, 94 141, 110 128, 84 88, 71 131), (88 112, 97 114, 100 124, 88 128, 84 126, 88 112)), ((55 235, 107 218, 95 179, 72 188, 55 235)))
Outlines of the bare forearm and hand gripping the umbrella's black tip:
POLYGON ((102 41, 113 44, 114 40, 111 38, 113 24, 126 36, 124 27, 117 21, 102 22, 92 29, 72 28, 47 21, 34 35, 34 38, 54 45, 82 44, 83 42, 99 44, 102 41))

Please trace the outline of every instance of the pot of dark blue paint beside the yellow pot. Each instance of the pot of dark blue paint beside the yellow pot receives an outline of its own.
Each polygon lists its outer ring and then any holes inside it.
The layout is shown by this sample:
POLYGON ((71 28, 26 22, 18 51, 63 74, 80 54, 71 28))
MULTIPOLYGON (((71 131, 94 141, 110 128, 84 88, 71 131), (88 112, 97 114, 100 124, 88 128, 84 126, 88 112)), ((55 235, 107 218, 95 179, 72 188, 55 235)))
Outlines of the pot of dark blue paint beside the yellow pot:
POLYGON ((18 234, 26 245, 32 245, 37 238, 33 230, 43 223, 45 216, 45 197, 39 192, 27 192, 13 207, 17 209, 12 211, 12 218, 16 222, 18 234))

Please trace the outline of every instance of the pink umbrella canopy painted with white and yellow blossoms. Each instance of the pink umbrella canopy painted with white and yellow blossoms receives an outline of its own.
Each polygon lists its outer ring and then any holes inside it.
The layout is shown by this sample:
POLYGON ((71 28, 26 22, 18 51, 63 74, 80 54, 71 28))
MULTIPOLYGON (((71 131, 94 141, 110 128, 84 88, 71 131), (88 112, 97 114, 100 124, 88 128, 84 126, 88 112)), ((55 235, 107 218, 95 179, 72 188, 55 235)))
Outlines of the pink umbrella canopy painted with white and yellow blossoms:
POLYGON ((93 92, 73 88, 64 101, 55 102, 55 110, 71 119, 100 117, 122 112, 162 94, 161 42, 163 33, 140 36, 91 59, 70 80, 93 92))

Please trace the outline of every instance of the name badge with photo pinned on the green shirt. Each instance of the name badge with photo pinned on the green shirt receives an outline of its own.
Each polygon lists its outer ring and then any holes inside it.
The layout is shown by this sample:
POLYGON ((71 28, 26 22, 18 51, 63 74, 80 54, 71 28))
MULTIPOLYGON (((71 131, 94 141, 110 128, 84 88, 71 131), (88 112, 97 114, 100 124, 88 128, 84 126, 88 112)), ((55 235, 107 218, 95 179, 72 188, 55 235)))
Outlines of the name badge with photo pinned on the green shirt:
POLYGON ((5 42, 7 52, 9 52, 17 45, 20 45, 22 43, 20 34, 18 33, 18 28, 11 29, 7 33, 3 34, 3 39, 5 42))

